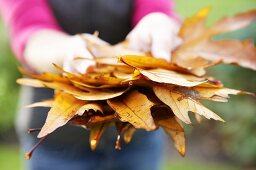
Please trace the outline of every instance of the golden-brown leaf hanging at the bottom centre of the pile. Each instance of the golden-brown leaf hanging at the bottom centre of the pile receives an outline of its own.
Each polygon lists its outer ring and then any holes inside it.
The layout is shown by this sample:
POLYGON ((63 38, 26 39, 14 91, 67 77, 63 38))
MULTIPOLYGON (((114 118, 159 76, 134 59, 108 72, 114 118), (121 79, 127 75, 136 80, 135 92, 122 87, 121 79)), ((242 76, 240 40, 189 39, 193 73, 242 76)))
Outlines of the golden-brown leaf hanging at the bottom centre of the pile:
POLYGON ((150 112, 154 105, 138 91, 131 91, 122 98, 110 99, 109 106, 116 111, 120 120, 131 123, 135 128, 154 130, 156 125, 150 112))

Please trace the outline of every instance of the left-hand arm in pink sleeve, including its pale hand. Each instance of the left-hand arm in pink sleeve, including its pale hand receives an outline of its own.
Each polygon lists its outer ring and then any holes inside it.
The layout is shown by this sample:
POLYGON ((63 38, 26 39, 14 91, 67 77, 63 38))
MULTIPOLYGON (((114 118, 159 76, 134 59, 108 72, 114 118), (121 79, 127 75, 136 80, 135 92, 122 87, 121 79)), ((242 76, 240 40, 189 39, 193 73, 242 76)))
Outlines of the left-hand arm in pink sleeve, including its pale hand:
POLYGON ((84 72, 93 62, 72 63, 74 56, 91 58, 85 42, 64 32, 47 0, 0 0, 10 28, 11 45, 23 65, 37 72, 56 72, 52 63, 73 72, 84 72))

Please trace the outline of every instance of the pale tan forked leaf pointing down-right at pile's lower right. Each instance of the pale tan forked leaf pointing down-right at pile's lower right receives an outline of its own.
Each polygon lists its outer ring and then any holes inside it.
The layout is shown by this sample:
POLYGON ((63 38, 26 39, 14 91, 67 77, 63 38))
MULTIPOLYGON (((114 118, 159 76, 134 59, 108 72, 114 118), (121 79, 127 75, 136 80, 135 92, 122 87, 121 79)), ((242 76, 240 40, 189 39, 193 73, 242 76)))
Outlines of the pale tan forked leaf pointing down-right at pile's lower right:
POLYGON ((182 96, 179 92, 170 90, 162 86, 153 86, 156 96, 166 105, 168 105, 173 113, 183 122, 191 123, 188 112, 200 114, 207 119, 215 119, 224 121, 211 110, 204 107, 199 101, 191 98, 190 96, 182 96))

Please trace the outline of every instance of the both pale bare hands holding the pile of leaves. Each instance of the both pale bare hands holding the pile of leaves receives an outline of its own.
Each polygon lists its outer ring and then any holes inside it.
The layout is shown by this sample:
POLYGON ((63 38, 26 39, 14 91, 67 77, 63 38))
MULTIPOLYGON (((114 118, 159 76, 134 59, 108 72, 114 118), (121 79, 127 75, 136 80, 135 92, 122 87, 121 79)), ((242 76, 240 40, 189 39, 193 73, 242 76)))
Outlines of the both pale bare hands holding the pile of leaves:
MULTIPOLYGON (((162 13, 146 15, 128 34, 129 48, 135 51, 151 52, 156 58, 171 59, 171 51, 181 39, 177 36, 179 25, 162 13)), ((106 42, 90 34, 83 34, 97 44, 106 42)), ((28 41, 24 53, 27 64, 38 72, 54 72, 51 63, 63 65, 69 72, 85 73, 95 65, 93 60, 76 60, 75 57, 93 58, 80 36, 69 36, 51 30, 36 32, 28 41)))

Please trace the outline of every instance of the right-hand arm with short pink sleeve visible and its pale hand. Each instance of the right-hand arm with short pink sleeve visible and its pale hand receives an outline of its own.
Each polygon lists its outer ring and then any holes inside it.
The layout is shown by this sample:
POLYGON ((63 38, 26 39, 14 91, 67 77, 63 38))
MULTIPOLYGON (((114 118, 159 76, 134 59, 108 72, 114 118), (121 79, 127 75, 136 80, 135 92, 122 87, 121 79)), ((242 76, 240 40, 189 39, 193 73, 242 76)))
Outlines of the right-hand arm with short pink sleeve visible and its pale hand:
POLYGON ((128 34, 129 47, 151 52, 154 57, 171 60, 171 51, 180 43, 179 18, 172 0, 134 0, 134 29, 128 34))

